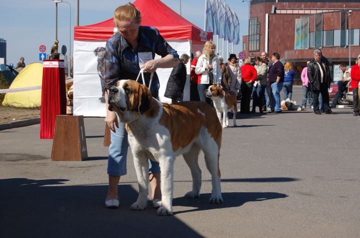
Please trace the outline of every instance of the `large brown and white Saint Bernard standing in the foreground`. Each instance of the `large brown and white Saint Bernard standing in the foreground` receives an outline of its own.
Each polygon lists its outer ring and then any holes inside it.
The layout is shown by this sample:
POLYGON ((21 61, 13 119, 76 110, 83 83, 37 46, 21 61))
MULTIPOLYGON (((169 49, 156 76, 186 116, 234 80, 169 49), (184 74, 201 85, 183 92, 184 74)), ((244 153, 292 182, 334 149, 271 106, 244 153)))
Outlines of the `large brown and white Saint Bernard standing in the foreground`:
POLYGON ((192 176, 192 190, 185 197, 199 197, 201 170, 197 157, 200 150, 212 179, 209 203, 223 202, 219 169, 222 129, 211 106, 200 101, 160 103, 151 97, 146 86, 134 80, 120 80, 111 87, 108 104, 108 109, 116 112, 128 132, 139 187, 132 210, 143 210, 147 205, 148 158, 159 162, 161 170, 162 199, 157 215, 172 215, 173 163, 180 154, 192 176))

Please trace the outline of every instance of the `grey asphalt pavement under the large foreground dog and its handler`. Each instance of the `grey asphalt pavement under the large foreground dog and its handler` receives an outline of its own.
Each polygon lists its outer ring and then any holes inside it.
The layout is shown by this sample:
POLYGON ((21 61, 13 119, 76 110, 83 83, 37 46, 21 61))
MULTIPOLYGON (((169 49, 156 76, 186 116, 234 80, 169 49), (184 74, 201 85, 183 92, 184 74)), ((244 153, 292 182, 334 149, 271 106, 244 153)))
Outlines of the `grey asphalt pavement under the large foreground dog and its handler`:
MULTIPOLYGON (((293 99, 301 95, 295 87, 293 99)), ((208 204, 202 155, 200 198, 183 198, 191 176, 179 157, 171 217, 158 217, 150 202, 129 209, 137 197, 131 155, 120 207, 104 207, 103 118, 84 119, 89 159, 81 162, 51 161, 52 140, 39 139, 39 124, 2 130, 0 237, 358 238, 360 117, 349 107, 333 111, 237 114, 238 127, 223 130, 224 203, 208 204)))

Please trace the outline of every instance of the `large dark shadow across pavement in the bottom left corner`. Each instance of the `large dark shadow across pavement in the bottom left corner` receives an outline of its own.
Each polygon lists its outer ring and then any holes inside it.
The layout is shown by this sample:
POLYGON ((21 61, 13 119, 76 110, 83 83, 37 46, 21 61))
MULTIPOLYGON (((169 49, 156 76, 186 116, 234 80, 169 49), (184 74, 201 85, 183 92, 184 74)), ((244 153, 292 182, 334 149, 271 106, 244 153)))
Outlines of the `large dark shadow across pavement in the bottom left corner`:
POLYGON ((106 209, 107 186, 61 186, 65 181, 0 180, 1 237, 201 237, 174 216, 158 217, 150 203, 131 211, 137 192, 130 185, 119 186, 120 207, 106 209))

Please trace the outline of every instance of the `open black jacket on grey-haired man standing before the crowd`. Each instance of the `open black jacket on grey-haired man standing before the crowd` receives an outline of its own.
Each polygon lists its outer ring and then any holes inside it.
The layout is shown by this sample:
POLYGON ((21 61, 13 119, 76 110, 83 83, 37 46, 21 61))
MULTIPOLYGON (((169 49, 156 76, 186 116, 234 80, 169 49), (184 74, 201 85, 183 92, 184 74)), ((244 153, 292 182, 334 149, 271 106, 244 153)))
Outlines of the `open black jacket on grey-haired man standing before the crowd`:
MULTIPOLYGON (((330 69, 326 61, 321 60, 321 63, 324 63, 326 71, 326 75, 323 76, 322 83, 326 83, 327 87, 330 87, 330 69)), ((307 77, 309 79, 309 82, 311 83, 312 90, 320 90, 320 68, 314 59, 312 59, 311 62, 307 65, 307 77)))

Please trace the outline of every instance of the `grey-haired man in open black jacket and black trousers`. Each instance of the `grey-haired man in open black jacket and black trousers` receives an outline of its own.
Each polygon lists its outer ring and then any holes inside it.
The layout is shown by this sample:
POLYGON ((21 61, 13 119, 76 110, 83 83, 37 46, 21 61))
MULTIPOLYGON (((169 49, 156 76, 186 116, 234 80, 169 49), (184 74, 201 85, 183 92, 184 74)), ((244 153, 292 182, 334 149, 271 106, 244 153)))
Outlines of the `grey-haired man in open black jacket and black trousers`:
POLYGON ((307 77, 311 83, 313 110, 316 115, 320 115, 319 110, 319 94, 322 95, 322 102, 325 114, 331 114, 329 106, 328 88, 331 82, 330 69, 325 60, 321 58, 321 50, 314 50, 314 59, 307 65, 307 77))

